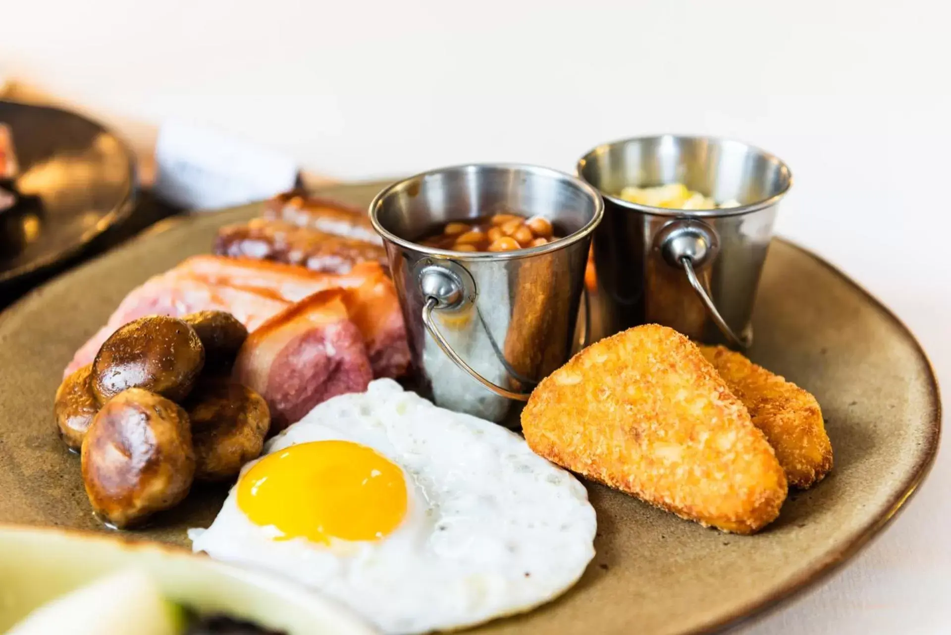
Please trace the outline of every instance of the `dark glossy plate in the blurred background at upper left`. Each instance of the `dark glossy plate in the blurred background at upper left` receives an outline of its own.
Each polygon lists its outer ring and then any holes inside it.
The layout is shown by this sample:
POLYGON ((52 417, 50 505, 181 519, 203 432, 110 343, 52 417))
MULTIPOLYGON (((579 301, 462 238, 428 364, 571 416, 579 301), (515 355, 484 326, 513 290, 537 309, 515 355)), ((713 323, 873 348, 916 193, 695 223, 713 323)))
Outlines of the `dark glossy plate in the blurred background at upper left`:
POLYGON ((125 219, 135 198, 132 153, 114 134, 66 110, 0 100, 20 164, 4 182, 17 202, 0 211, 0 306, 44 270, 79 255, 125 219))

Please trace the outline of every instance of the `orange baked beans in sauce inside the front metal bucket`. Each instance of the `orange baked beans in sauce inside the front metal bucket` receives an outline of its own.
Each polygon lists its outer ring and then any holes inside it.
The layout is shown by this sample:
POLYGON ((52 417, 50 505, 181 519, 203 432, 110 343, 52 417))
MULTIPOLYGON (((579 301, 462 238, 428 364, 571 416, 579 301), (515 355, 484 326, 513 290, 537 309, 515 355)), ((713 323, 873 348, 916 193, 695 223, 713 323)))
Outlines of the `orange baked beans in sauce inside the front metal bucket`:
POLYGON ((491 214, 440 226, 420 241, 425 247, 453 251, 513 251, 562 238, 542 216, 491 214))

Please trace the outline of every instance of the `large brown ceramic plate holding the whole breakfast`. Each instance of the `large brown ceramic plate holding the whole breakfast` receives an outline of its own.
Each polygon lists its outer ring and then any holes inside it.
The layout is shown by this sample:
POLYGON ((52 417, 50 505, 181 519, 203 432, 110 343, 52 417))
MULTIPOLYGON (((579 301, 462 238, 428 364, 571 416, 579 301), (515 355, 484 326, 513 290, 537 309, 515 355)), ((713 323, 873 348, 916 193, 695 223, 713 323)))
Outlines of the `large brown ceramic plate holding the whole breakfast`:
MULTIPOLYGON (((328 189, 365 205, 378 184, 328 189)), ((79 457, 55 433, 53 392, 73 352, 126 292, 258 207, 165 224, 37 289, 0 318, 0 521, 102 529, 79 457)), ((922 481, 935 456, 940 405, 921 348, 895 317, 841 273, 784 241, 769 253, 750 356, 811 390, 835 446, 823 483, 793 493, 762 534, 732 536, 682 521, 603 486, 597 555, 571 591, 479 632, 698 633, 735 623, 819 580, 864 546, 922 481)), ((192 492, 139 536, 186 544, 221 489, 192 492)), ((553 554, 553 557, 556 557, 553 554)))

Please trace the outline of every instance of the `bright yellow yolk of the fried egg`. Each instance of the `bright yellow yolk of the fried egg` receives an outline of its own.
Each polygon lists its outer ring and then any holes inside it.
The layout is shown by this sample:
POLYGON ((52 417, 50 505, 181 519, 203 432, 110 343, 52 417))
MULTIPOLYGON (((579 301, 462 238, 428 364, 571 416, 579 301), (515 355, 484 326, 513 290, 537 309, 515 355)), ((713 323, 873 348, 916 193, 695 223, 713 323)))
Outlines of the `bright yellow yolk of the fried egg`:
POLYGON ((238 483, 238 506, 276 540, 378 540, 406 515, 398 466, 350 441, 315 441, 268 454, 238 483))

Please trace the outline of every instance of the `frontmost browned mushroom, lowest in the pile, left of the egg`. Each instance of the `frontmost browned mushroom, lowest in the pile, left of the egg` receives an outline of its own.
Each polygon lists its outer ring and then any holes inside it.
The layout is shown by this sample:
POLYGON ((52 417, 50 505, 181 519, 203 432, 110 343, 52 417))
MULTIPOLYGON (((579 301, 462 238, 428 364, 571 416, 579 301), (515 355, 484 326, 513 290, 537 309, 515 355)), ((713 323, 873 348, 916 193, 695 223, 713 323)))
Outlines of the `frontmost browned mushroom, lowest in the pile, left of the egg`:
POLYGON ((92 508, 117 527, 184 499, 195 474, 188 415, 165 397, 129 388, 103 406, 83 440, 92 508))

